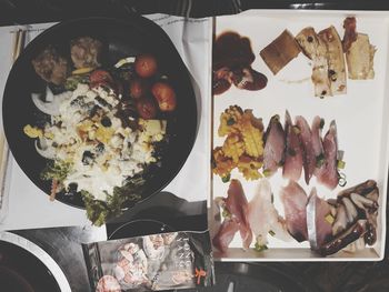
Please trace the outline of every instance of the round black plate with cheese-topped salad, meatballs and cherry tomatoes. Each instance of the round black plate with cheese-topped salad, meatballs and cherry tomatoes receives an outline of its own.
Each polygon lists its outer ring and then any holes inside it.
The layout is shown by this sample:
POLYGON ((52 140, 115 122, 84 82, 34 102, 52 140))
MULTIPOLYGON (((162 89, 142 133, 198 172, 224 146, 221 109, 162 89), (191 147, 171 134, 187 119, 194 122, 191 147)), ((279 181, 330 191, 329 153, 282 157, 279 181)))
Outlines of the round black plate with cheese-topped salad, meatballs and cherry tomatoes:
POLYGON ((99 225, 176 177, 194 143, 197 103, 152 21, 77 19, 42 32, 16 61, 3 124, 29 179, 99 225))

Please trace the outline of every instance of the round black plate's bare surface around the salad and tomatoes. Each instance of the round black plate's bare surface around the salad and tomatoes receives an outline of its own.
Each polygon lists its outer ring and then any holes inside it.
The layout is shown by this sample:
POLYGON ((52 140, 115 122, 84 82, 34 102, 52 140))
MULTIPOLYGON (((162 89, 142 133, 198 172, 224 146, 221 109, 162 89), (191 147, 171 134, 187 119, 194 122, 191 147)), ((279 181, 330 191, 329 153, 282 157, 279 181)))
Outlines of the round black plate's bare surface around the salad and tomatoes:
MULTIPOLYGON (((141 174, 143 175, 141 188, 134 190, 138 198, 136 202, 141 202, 159 192, 176 177, 189 155, 197 134, 197 104, 187 68, 168 36, 157 24, 142 17, 133 16, 127 20, 109 18, 70 20, 53 26, 31 41, 14 63, 6 85, 3 124, 8 143, 16 161, 27 177, 43 192, 50 194, 52 182, 42 180, 41 175, 50 159, 46 159, 37 152, 37 142, 31 140, 31 137, 26 135, 26 125, 30 124, 34 128, 37 124, 42 127, 42 124, 49 123, 50 115, 38 109, 31 93, 40 94, 41 98, 50 88, 48 83, 57 81, 46 82, 42 80, 37 73, 38 71, 36 72, 37 68, 32 66, 32 60, 37 60, 38 56, 50 46, 54 47, 68 61, 73 60, 70 56, 69 44, 84 37, 102 43, 102 49, 99 52, 101 61, 99 68, 102 69, 113 68, 114 70, 114 68, 121 68, 124 64, 130 66, 130 70, 134 70, 131 67, 134 67, 137 56, 152 56, 158 62, 157 73, 152 77, 139 77, 153 84, 169 84, 176 93, 177 103, 173 110, 169 111, 168 109, 169 112, 162 109, 157 110, 154 119, 164 121, 166 129, 163 131, 167 143, 153 149, 154 152, 158 152, 158 163, 151 163, 147 173, 141 174)), ((77 71, 78 69, 81 69, 81 73, 88 69, 77 67, 77 63, 74 66, 77 73, 80 72, 77 71)), ((97 69, 93 68, 94 71, 97 69)), ((90 82, 89 84, 92 87, 90 82)), ((98 87, 101 88, 101 84, 98 87)), ((128 87, 129 84, 124 85, 123 90, 131 91, 132 89, 128 87)), ((56 87, 51 87, 50 90, 56 91, 56 87)), ((53 93, 56 95, 58 92, 53 93)), ((126 95, 126 93, 122 94, 126 95)), ((133 94, 128 95, 132 97, 133 94)), ((47 101, 43 100, 44 102, 47 101)), ((154 100, 152 102, 157 103, 154 100)), ((42 100, 40 104, 42 104, 42 100)), ((136 107, 138 104, 140 102, 137 101, 136 107)), ((140 110, 138 110, 138 114, 142 115, 140 110)), ((144 118, 146 123, 151 119, 147 115, 141 118, 144 118)), ((106 142, 109 143, 109 139, 106 142)), ((84 201, 79 190, 62 189, 57 192, 56 199, 71 207, 84 208, 84 201)), ((123 202, 121 211, 127 210, 136 202, 131 200, 123 202)))

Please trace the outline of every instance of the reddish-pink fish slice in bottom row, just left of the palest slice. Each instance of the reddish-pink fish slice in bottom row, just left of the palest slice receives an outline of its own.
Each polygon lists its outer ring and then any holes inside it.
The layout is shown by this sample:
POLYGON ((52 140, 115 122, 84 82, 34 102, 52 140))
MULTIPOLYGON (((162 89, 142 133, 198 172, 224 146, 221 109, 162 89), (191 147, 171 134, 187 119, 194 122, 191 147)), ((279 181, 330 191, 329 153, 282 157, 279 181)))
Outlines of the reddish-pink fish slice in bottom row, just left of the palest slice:
POLYGON ((243 249, 248 249, 252 241, 252 232, 248 220, 249 203, 238 180, 231 180, 226 199, 226 209, 238 222, 243 249))

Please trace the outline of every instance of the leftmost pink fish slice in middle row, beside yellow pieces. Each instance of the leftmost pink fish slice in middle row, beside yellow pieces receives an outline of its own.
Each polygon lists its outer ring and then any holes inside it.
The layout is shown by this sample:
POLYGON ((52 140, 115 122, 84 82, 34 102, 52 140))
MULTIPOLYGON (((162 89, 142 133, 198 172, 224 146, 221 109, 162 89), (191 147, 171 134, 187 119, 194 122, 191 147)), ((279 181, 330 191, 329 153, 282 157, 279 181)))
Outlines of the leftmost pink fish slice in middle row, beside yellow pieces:
POLYGON ((267 177, 272 175, 283 163, 285 145, 285 132, 280 123, 280 117, 276 114, 270 119, 266 131, 263 170, 267 177))

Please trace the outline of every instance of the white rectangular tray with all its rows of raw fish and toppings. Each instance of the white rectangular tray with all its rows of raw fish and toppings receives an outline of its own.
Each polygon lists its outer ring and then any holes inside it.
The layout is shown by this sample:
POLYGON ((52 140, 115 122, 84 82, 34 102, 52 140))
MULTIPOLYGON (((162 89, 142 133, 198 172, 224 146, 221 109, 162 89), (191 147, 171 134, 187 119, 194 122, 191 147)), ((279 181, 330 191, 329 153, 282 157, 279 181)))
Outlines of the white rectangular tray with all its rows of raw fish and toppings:
POLYGON ((388 20, 282 10, 216 18, 216 258, 383 259, 388 20))

